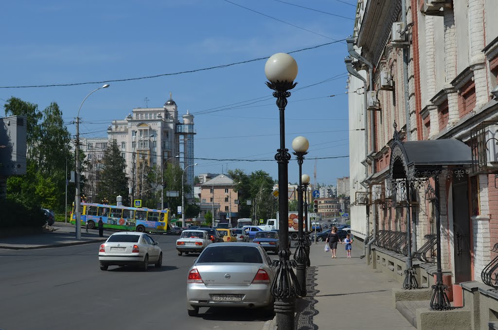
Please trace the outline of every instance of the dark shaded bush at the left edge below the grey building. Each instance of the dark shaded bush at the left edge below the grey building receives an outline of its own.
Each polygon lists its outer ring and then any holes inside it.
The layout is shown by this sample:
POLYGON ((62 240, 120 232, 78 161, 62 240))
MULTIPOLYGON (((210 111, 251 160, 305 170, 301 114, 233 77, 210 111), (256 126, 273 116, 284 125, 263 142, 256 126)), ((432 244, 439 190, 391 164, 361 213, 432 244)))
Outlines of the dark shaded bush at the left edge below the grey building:
POLYGON ((45 214, 39 206, 24 205, 16 200, 0 201, 0 227, 41 227, 45 224, 45 214))

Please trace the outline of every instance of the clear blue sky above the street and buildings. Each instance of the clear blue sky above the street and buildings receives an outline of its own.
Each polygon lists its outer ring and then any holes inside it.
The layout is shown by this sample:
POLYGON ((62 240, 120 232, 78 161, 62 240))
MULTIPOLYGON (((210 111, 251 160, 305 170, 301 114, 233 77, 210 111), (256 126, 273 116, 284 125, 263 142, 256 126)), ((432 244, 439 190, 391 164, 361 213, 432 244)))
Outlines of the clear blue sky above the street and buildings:
MULTIPOLYGON (((6 1, 2 3, 0 20, 0 86, 103 81, 200 69, 312 47, 333 41, 330 38, 345 39, 353 31, 352 19, 275 0, 230 1, 315 33, 224 0, 6 1)), ((285 1, 355 16, 354 0, 285 1)), ((293 54, 299 73, 296 91, 286 109, 286 146, 291 149, 296 136, 308 138, 310 152, 303 172, 309 173, 312 180, 315 157, 349 153, 348 103, 344 94, 346 55, 344 43, 293 54), (297 90, 333 77, 340 78, 297 90), (327 97, 330 95, 336 96, 327 97)), ((110 88, 94 93, 83 105, 80 133, 105 137, 111 120, 124 119, 132 108, 145 107, 145 98, 149 99, 149 107, 162 107, 170 91, 180 115, 187 109, 195 115, 270 97, 271 90, 264 85, 264 64, 265 60, 261 60, 195 73, 112 82, 110 88)), ((55 101, 69 123, 76 117, 83 98, 101 85, 0 88, 0 105, 11 96, 36 103, 40 109, 55 101)), ((240 105, 195 116, 196 158, 273 158, 279 144, 274 99, 240 105)), ((68 128, 74 134, 74 125, 68 128)), ((277 178, 274 161, 196 163, 196 174, 220 173, 223 166, 225 170, 242 168, 247 172, 262 169, 277 178)), ((335 184, 337 177, 349 174, 348 158, 322 159, 317 164, 320 183, 335 184)), ((291 162, 289 181, 297 181, 297 175, 297 164, 291 162)))

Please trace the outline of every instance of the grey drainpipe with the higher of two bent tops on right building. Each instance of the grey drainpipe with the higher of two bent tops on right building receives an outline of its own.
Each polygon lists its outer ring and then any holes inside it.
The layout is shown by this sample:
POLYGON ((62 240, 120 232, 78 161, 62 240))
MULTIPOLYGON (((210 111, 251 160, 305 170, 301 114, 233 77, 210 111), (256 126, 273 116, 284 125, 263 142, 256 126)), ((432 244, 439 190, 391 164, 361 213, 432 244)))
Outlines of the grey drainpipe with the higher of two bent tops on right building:
MULTIPOLYGON (((372 65, 372 63, 370 63, 365 57, 363 57, 362 55, 360 55, 359 53, 356 52, 355 47, 354 47, 355 38, 350 36, 346 39, 346 42, 348 44, 349 54, 369 67, 369 83, 370 83, 369 91, 373 91, 373 65, 372 65)), ((365 107, 367 108, 367 104, 365 104, 365 107)), ((367 123, 365 122, 365 124, 367 124, 367 123)), ((372 157, 372 155, 374 153, 374 149, 375 149, 375 143, 374 143, 375 130, 374 130, 373 116, 370 116, 370 132, 372 134, 372 139, 370 140, 370 153, 367 155, 367 157, 370 158, 372 161, 372 175, 373 175, 375 173, 375 159, 373 159, 373 157, 372 157)), ((365 130, 365 136, 368 138, 367 130, 365 130)), ((368 139, 366 141, 368 141, 368 139)), ((367 145, 367 143, 366 143, 366 145, 367 145)), ((368 177, 368 175, 365 175, 365 176, 368 177)), ((370 247, 373 244, 373 242, 377 239, 377 224, 376 224, 377 208, 373 207, 372 211, 373 211, 372 212, 372 215, 373 215, 373 233, 372 234, 373 234, 373 236, 372 236, 372 239, 369 241, 368 237, 370 235, 370 219, 369 219, 369 216, 367 215, 367 228, 368 228, 367 233, 368 233, 368 235, 365 237, 365 242, 364 242, 365 243, 365 252, 366 252, 365 255, 367 256, 367 264, 368 265, 370 264, 370 247)))

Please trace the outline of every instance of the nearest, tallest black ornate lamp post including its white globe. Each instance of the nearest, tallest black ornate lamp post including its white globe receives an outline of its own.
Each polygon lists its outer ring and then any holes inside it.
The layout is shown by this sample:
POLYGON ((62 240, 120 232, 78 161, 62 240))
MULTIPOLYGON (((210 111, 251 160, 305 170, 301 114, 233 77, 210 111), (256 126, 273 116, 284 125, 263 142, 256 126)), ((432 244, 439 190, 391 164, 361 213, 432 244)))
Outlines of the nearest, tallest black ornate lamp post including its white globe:
MULTIPOLYGON (((280 148, 275 154, 278 163, 278 187, 282 191, 287 190, 288 172, 287 166, 290 160, 288 149, 285 148, 285 106, 290 96, 289 90, 297 83, 297 63, 289 54, 277 53, 272 55, 264 65, 264 73, 269 82, 266 85, 274 90, 273 96, 277 99, 276 104, 280 113, 280 148)), ((276 275, 271 284, 271 294, 275 298, 274 310, 278 329, 294 329, 294 310, 296 294, 299 292, 299 283, 292 270, 295 261, 289 260, 289 201, 286 193, 278 195, 278 225, 280 250, 278 261, 274 263, 276 275)))

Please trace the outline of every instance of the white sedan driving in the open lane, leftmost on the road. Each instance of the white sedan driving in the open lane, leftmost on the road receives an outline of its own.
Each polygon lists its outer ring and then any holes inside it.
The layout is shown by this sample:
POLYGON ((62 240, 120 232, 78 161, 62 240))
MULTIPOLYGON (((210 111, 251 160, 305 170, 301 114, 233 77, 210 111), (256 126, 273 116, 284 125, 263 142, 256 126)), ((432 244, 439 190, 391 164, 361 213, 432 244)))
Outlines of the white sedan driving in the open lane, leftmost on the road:
POLYGON ((143 271, 149 264, 161 267, 162 250, 158 244, 145 233, 114 233, 100 246, 100 269, 107 270, 112 265, 135 265, 143 271))

